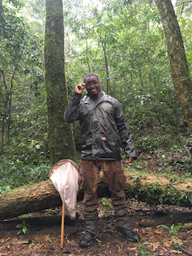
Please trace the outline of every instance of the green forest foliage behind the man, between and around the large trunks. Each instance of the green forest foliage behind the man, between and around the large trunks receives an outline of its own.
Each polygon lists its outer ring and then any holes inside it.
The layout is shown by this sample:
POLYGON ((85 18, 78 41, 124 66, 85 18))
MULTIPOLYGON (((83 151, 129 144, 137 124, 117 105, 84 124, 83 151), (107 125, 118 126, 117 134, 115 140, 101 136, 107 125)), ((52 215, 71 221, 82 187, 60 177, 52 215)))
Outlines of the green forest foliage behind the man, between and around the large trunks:
MULTIPOLYGON (((0 1, 0 192, 48 178, 45 1, 0 1)), ((192 74, 191 3, 175 6, 192 74)), ((138 152, 191 138, 173 89, 164 30, 151 1, 64 1, 69 95, 89 71, 122 104, 138 152), (185 129, 184 129, 185 128, 185 129)), ((63 109, 64 112, 64 109, 63 109)), ((74 135, 79 150, 79 125, 74 135)))

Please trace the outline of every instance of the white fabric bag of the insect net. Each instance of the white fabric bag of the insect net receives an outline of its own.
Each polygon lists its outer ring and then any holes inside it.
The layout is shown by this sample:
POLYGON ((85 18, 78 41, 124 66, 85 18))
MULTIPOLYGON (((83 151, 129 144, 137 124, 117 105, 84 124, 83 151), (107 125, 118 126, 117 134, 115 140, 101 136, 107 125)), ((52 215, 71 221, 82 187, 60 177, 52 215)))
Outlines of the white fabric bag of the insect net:
POLYGON ((76 218, 77 194, 79 192, 78 179, 79 172, 70 162, 59 166, 50 177, 71 220, 76 218))

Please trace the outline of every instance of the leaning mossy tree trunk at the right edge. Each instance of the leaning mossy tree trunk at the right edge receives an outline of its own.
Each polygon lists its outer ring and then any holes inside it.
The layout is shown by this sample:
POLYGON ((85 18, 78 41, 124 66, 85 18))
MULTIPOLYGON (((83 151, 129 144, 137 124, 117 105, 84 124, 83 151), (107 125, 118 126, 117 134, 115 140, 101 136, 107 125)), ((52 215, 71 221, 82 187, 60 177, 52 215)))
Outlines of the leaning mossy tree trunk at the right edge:
POLYGON ((192 132, 192 80, 186 61, 181 31, 171 1, 155 0, 155 2, 160 13, 167 41, 173 87, 175 88, 190 132, 192 132))

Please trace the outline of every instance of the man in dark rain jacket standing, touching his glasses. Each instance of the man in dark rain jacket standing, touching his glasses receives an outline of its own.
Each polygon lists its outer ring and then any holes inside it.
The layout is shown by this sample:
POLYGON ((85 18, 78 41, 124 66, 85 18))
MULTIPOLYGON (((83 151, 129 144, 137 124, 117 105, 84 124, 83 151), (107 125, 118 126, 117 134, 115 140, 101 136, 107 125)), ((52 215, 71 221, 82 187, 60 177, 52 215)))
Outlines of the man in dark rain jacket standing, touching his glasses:
POLYGON ((130 228, 126 195, 123 192, 126 177, 120 155, 121 139, 126 153, 126 164, 136 159, 130 128, 120 103, 100 90, 101 83, 96 74, 87 74, 83 82, 75 87, 75 92, 72 92, 64 114, 66 122, 79 120, 82 136, 79 181, 84 190, 86 233, 79 245, 87 247, 97 236, 97 184, 101 168, 112 194, 112 204, 117 217, 117 233, 129 241, 139 241, 139 234, 130 228), (87 90, 87 96, 81 100, 84 88, 87 90))

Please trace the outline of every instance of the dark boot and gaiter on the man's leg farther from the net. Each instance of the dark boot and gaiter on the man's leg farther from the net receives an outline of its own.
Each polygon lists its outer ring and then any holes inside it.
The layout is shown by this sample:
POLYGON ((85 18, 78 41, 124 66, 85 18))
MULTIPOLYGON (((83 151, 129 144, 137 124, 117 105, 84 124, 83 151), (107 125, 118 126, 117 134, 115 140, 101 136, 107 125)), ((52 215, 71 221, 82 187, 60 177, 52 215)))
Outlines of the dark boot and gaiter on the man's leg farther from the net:
POLYGON ((121 204, 114 206, 115 208, 115 215, 116 215, 116 224, 117 224, 117 233, 122 236, 126 237, 128 241, 139 241, 140 237, 138 233, 135 233, 130 228, 130 216, 127 213, 127 206, 126 204, 121 204))

